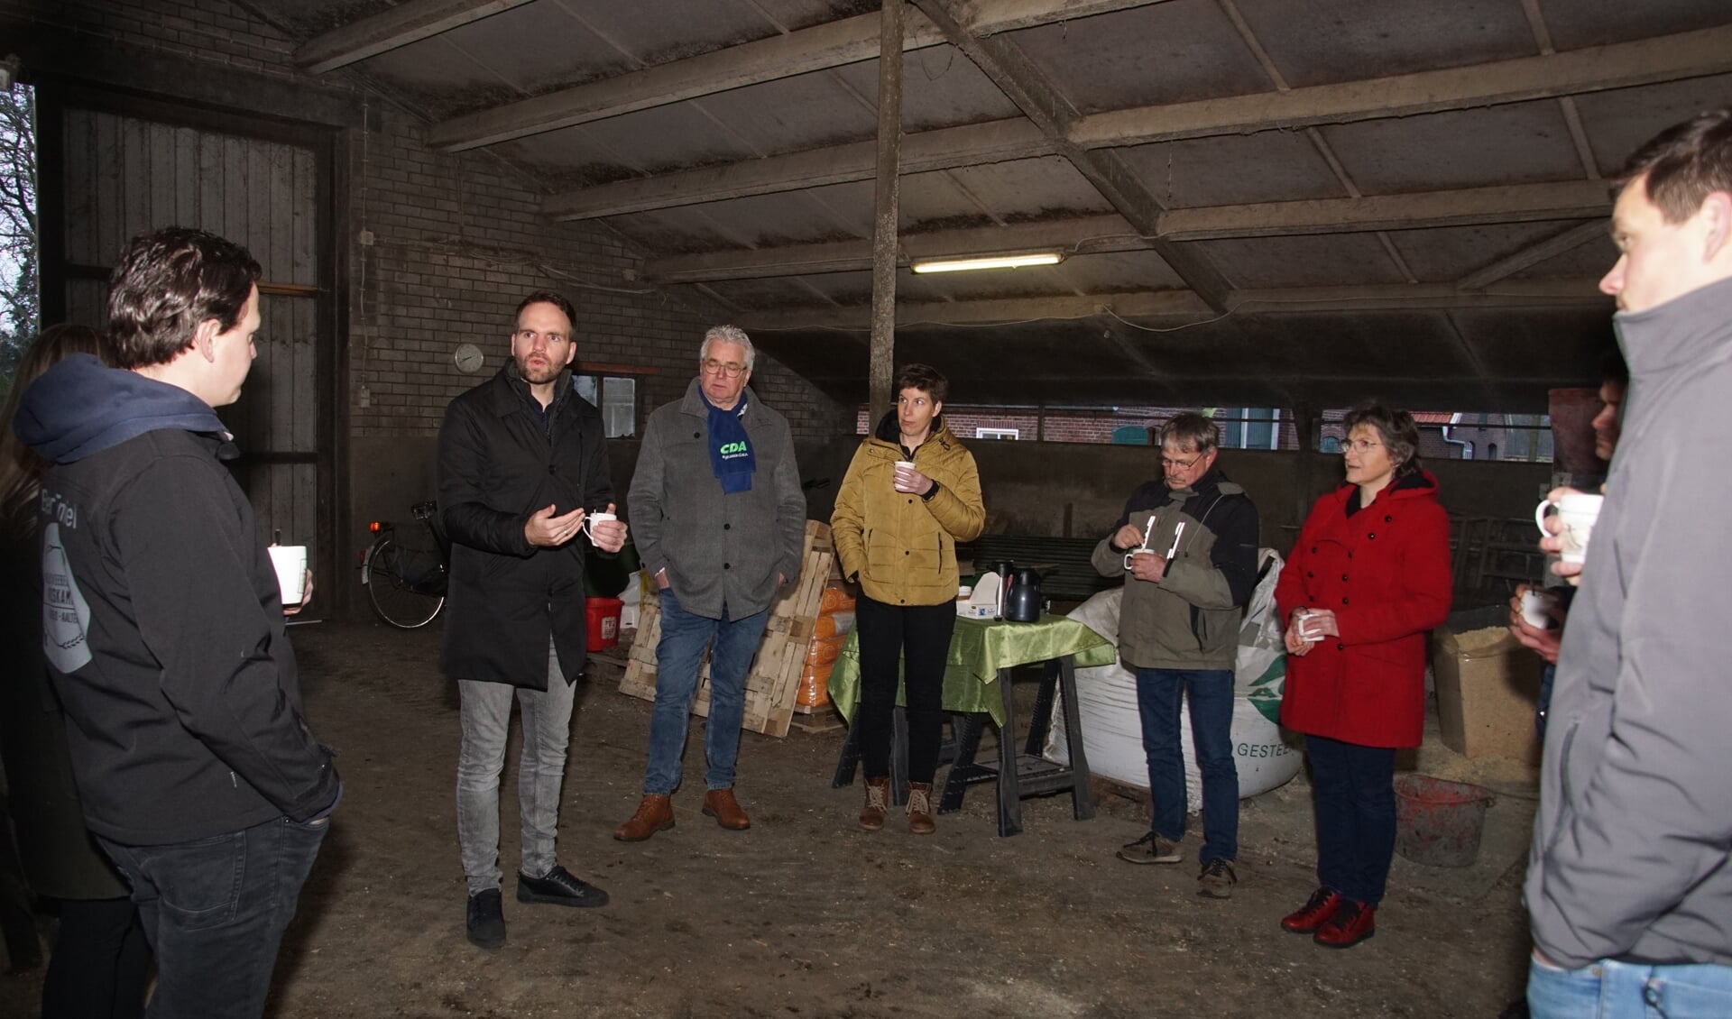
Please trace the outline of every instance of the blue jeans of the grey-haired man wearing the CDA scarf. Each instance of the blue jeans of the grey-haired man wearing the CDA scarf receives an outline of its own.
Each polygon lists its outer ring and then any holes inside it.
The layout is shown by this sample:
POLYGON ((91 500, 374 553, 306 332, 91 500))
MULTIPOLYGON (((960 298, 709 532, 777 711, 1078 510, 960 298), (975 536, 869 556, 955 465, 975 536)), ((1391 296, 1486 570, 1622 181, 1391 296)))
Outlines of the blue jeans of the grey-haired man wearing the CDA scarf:
POLYGON ((672 588, 662 590, 662 640, 655 645, 655 709, 650 713, 650 763, 644 796, 672 796, 679 789, 679 758, 686 753, 691 699, 698 692, 698 666, 710 650, 710 720, 703 727, 703 773, 708 789, 731 789, 740 756, 740 723, 746 716, 746 673, 757 657, 769 609, 745 619, 693 616, 679 607, 672 588))

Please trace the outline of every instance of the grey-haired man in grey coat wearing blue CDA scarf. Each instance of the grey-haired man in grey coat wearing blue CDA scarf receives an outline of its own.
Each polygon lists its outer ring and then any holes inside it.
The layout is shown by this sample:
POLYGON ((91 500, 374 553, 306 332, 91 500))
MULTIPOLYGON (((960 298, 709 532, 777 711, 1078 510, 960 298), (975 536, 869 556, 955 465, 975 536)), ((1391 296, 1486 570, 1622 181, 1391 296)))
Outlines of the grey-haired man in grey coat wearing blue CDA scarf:
POLYGON ((752 825, 734 799, 746 671, 776 592, 800 576, 805 493, 788 420, 746 389, 752 339, 733 325, 703 334, 686 396, 650 415, 627 507, 637 555, 660 586, 655 709, 643 801, 613 837, 641 843, 674 827, 674 791, 703 650, 710 720, 703 813, 752 825))

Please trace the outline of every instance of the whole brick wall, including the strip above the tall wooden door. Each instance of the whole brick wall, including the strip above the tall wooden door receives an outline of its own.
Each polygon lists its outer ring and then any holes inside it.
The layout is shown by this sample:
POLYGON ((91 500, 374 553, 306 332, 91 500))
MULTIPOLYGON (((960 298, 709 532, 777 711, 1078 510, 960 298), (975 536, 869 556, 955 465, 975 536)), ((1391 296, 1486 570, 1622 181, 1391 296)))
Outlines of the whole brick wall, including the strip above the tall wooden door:
MULTIPOLYGON (((293 45, 281 33, 227 0, 0 0, 0 17, 211 69, 312 81, 291 66, 293 45)), ((537 289, 559 291, 578 308, 580 367, 639 375, 644 413, 684 391, 703 329, 722 320, 719 310, 632 282, 643 253, 618 234, 546 220, 532 182, 485 152, 430 151, 416 116, 357 81, 345 71, 317 78, 319 88, 346 90, 365 109, 362 128, 348 131, 350 235, 338 239, 352 266, 350 334, 341 344, 352 436, 433 434, 450 398, 507 356, 511 313, 537 289), (371 244, 362 232, 371 232, 371 244), (464 341, 487 353, 476 375, 452 363, 464 341)), ((788 415, 795 439, 823 441, 847 429, 847 408, 767 355, 759 355, 752 386, 788 415)))

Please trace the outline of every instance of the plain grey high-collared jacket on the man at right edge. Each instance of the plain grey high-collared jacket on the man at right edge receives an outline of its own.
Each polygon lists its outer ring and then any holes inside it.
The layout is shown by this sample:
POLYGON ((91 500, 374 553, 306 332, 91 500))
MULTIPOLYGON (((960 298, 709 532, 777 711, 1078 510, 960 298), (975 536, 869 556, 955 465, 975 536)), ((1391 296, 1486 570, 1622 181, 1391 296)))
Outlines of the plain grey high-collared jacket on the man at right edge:
POLYGON ((1732 965, 1732 280, 1614 324, 1626 417, 1557 659, 1528 913, 1557 965, 1732 965))

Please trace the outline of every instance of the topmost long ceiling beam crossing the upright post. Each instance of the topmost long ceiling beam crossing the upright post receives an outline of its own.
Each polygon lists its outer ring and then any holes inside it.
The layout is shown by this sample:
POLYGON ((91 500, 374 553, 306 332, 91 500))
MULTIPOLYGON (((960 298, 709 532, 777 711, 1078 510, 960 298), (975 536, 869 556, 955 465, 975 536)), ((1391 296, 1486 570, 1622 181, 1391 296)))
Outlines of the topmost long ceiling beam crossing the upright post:
MULTIPOLYGON (((968 5, 968 28, 991 35, 1160 2, 977 0, 968 5)), ((942 42, 944 35, 925 16, 909 12, 904 52, 942 42)), ((433 125, 428 145, 447 152, 476 149, 876 57, 878 16, 861 14, 452 118, 433 125)))

